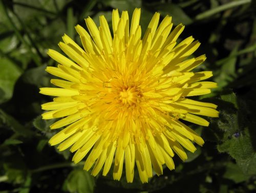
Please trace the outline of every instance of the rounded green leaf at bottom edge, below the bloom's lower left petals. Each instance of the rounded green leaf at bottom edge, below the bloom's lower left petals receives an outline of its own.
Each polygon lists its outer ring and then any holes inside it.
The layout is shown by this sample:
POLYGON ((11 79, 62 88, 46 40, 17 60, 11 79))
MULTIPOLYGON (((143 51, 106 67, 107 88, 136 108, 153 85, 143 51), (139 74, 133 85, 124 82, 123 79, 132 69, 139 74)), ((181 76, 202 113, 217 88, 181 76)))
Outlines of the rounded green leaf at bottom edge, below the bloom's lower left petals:
POLYGON ((69 192, 91 193, 94 189, 94 177, 84 170, 73 170, 64 184, 69 192))

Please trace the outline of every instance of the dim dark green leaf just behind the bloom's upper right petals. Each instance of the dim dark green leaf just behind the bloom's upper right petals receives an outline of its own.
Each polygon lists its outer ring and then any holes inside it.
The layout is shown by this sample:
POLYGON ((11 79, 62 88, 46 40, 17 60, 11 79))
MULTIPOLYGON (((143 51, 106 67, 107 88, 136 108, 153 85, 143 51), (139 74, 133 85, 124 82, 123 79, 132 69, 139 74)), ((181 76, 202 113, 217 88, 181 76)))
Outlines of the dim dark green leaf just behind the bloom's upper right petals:
POLYGON ((154 7, 154 10, 161 13, 163 17, 165 17, 165 15, 172 16, 172 22, 174 23, 174 25, 179 25, 180 23, 183 23, 184 25, 189 25, 193 22, 193 20, 190 19, 190 17, 188 17, 187 14, 176 4, 159 4, 154 7))

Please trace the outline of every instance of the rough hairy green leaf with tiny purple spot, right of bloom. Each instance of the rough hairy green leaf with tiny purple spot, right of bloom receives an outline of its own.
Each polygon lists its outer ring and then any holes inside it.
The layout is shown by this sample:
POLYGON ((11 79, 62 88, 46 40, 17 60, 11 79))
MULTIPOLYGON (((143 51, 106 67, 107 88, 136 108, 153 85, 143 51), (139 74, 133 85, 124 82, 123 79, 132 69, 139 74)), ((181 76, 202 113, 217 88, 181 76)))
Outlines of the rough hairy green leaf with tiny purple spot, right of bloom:
POLYGON ((250 129, 254 129, 254 126, 248 125, 246 118, 246 108, 239 109, 241 102, 239 103, 236 95, 231 92, 228 94, 221 95, 221 98, 232 104, 236 109, 222 107, 225 109, 225 113, 221 113, 220 118, 222 121, 219 122, 220 129, 224 130, 223 142, 218 144, 217 149, 219 152, 226 152, 232 158, 234 158, 237 164, 245 175, 256 174, 255 162, 256 156, 253 147, 253 134, 250 129), (238 109, 238 110, 237 110, 238 109), (228 113, 229 112, 229 113, 228 113), (246 122, 246 123, 243 123, 246 122), (254 166, 253 166, 254 165, 254 166))

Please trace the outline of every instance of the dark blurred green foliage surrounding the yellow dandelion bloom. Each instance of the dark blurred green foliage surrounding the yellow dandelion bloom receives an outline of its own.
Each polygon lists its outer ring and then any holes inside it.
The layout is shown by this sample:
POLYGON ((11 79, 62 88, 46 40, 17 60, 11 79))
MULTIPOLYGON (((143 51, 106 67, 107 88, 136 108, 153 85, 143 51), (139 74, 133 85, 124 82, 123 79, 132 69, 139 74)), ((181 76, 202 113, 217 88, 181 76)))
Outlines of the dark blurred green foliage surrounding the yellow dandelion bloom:
MULTIPOLYGON (((256 189, 256 3, 249 0, 1 0, 0 1, 0 192, 255 192, 256 189), (176 169, 164 170, 148 184, 93 178, 82 162, 71 162, 69 151, 50 147, 54 120, 42 120, 40 104, 50 101, 38 93, 49 86, 47 65, 55 65, 47 49, 58 50, 74 26, 85 27, 91 16, 104 14, 111 24, 113 8, 132 16, 142 8, 145 31, 154 12, 168 14, 186 25, 181 38, 201 41, 195 55, 206 54, 196 70, 212 70, 219 85, 202 101, 218 105, 219 118, 209 128, 191 125, 205 139, 176 169)), ((123 175, 124 176, 124 175, 123 175)))

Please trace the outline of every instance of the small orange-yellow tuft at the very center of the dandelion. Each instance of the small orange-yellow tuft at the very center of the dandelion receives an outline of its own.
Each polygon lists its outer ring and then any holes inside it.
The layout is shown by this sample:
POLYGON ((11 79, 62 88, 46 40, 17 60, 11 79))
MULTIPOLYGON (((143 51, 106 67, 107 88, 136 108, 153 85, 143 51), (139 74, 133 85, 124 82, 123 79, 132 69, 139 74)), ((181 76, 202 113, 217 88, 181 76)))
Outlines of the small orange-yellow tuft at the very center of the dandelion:
POLYGON ((138 102, 139 92, 136 91, 135 87, 123 88, 120 92, 120 100, 123 104, 133 105, 138 102))

